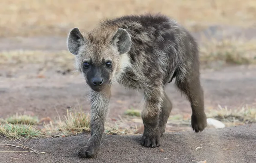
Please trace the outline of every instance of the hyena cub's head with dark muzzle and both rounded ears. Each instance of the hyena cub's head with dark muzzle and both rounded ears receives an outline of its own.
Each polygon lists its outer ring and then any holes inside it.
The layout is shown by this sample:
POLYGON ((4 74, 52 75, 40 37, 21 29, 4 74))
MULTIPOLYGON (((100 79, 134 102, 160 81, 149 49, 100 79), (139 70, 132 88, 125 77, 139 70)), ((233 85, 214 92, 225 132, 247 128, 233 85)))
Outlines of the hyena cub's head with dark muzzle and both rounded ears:
POLYGON ((76 69, 94 91, 102 91, 130 65, 131 37, 125 29, 94 29, 82 35, 73 28, 67 39, 70 53, 76 55, 76 69))

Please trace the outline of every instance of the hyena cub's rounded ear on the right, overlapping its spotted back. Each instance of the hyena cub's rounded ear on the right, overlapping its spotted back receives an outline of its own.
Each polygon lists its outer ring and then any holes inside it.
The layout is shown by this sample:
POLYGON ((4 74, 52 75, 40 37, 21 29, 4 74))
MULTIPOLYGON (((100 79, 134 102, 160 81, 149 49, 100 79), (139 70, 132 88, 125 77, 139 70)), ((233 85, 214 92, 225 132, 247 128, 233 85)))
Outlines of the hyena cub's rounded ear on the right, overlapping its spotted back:
POLYGON ((118 48, 120 54, 124 54, 131 48, 131 37, 127 30, 119 28, 115 36, 113 36, 111 43, 118 48))

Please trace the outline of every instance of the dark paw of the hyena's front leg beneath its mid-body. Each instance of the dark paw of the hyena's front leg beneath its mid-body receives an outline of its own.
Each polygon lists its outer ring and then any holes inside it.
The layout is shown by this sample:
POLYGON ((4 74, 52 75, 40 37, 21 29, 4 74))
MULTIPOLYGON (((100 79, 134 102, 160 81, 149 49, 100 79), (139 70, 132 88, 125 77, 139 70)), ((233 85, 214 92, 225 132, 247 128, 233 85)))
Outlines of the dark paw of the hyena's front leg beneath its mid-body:
POLYGON ((160 142, 160 132, 155 131, 153 132, 153 134, 149 134, 151 132, 147 132, 147 130, 144 130, 144 133, 141 137, 141 145, 143 145, 144 147, 151 147, 151 148, 155 148, 155 147, 159 147, 161 145, 160 142))

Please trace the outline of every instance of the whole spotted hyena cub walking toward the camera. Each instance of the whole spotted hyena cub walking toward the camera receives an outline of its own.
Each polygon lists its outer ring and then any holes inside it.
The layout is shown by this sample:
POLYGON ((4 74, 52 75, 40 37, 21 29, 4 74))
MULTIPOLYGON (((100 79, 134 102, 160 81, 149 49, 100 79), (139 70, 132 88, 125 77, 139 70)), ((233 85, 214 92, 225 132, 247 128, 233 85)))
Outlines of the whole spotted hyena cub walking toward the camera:
POLYGON ((80 149, 81 157, 94 157, 99 151, 114 82, 143 92, 141 145, 145 147, 161 144, 172 109, 165 86, 174 78, 191 103, 193 130, 207 126, 198 45, 176 21, 161 14, 107 19, 86 35, 73 28, 67 46, 91 90, 91 137, 80 149))

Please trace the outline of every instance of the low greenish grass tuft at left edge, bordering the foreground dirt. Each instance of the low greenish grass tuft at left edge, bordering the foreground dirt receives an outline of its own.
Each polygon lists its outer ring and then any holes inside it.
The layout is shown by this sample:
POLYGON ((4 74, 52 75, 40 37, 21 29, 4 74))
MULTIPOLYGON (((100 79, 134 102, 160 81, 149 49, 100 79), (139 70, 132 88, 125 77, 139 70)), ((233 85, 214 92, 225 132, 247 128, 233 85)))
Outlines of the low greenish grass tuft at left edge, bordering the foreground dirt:
POLYGON ((0 135, 10 139, 35 138, 43 133, 30 124, 0 124, 0 135))

